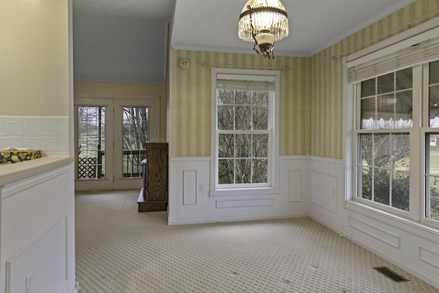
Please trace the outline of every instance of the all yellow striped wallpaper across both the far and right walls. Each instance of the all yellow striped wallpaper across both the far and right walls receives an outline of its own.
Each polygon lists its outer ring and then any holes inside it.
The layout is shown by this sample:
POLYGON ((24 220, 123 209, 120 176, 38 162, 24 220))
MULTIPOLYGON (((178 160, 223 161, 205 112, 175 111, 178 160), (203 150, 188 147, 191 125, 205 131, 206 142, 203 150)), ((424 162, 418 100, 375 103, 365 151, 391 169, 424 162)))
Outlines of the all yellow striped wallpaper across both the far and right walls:
POLYGON ((438 0, 407 7, 324 49, 311 58, 170 50, 171 156, 210 156, 211 69, 215 65, 289 67, 281 72, 280 154, 342 159, 342 56, 352 54, 438 16, 438 0), (191 67, 180 69, 181 59, 191 67))

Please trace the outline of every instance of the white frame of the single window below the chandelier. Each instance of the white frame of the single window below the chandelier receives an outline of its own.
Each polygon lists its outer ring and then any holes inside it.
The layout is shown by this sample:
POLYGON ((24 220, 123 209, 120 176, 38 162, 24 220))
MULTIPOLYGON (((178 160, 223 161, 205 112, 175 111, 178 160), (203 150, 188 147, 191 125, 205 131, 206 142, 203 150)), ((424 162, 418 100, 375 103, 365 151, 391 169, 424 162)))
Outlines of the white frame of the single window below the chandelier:
MULTIPOLYGON (((280 75, 278 70, 256 70, 256 69, 226 69, 211 68, 211 191, 210 196, 235 196, 235 195, 259 195, 259 194, 280 194, 279 180, 279 113, 280 113, 280 75), (219 185, 218 183, 218 139, 219 130, 217 127, 217 80, 219 76, 227 76, 233 80, 262 81, 272 80, 274 92, 269 100, 269 148, 268 148, 268 183, 254 185, 219 185)), ((270 94, 271 95, 271 94, 270 94)), ((257 131, 256 131, 257 133, 257 131)))

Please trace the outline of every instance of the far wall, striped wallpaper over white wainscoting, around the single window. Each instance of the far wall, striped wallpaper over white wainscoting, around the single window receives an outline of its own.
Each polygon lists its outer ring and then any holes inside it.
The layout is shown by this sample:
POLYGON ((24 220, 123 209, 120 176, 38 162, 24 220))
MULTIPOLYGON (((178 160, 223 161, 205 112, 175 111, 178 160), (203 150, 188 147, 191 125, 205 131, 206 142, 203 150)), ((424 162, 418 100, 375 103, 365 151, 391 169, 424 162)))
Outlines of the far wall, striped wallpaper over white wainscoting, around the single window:
POLYGON ((309 58, 203 51, 169 52, 169 224, 287 218, 308 210, 309 58), (181 59, 191 62, 180 69, 181 59), (211 66, 204 66, 207 63, 211 66), (263 67, 281 71, 279 194, 209 196, 211 67, 263 67), (296 155, 296 156, 292 156, 296 155))

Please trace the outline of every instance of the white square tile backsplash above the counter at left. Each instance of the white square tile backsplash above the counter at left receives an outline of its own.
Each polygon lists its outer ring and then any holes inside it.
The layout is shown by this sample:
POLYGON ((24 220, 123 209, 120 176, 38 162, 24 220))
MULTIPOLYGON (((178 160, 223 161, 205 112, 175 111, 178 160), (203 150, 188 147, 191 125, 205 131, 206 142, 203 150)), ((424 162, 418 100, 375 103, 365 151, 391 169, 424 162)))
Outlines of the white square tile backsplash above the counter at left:
POLYGON ((0 150, 8 147, 68 156, 69 117, 0 116, 0 150))

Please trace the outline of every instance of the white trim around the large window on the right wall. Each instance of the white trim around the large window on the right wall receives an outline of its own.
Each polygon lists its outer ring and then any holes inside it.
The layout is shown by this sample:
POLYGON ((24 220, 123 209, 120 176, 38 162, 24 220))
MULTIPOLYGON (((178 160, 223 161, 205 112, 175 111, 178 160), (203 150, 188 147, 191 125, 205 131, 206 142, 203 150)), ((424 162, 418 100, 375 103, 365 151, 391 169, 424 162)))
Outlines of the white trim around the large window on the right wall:
MULTIPOLYGON (((412 137, 416 139, 418 138, 418 142, 412 143, 411 148, 415 149, 411 150, 410 162, 414 167, 412 168, 414 171, 410 173, 410 177, 414 177, 416 184, 410 186, 410 213, 405 211, 398 211, 392 207, 385 207, 382 204, 376 204, 375 202, 370 202, 366 200, 361 200, 361 198, 357 198, 355 195, 357 194, 357 178, 355 168, 357 154, 354 150, 357 149, 357 132, 355 130, 355 119, 358 119, 358 111, 356 108, 357 102, 352 98, 355 97, 355 85, 350 84, 348 81, 348 69, 351 67, 355 67, 358 65, 366 64, 368 62, 374 62, 375 60, 379 60, 384 58, 385 56, 390 56, 391 54, 395 54, 398 51, 403 51, 407 49, 407 47, 416 46, 419 43, 423 43, 425 41, 431 41, 431 39, 438 38, 439 33, 439 18, 433 19, 431 21, 427 21, 421 25, 418 25, 410 30, 407 30, 401 34, 383 40, 380 43, 372 45, 366 49, 356 52, 355 54, 351 54, 350 56, 345 56, 343 58, 344 71, 343 71, 343 80, 344 80, 344 89, 343 89, 343 110, 344 110, 344 165, 345 165, 345 199, 344 199, 344 207, 348 207, 348 204, 357 205, 364 209, 370 209, 371 211, 376 211, 379 213, 388 213, 389 215, 394 215, 395 217, 403 217, 407 220, 416 221, 419 225, 429 224, 429 226, 433 226, 435 228, 439 228, 438 222, 434 220, 430 220, 424 217, 423 209, 425 207, 425 184, 424 184, 424 174, 423 172, 418 172, 418 170, 425 169, 425 132, 431 132, 431 128, 425 128, 425 124, 421 124, 420 117, 413 117, 413 120, 416 120, 417 128, 414 130, 416 134, 412 137), (420 127, 421 126, 421 127, 420 127), (414 155, 419 155, 420 157, 413 157, 414 155), (415 172, 416 171, 416 172, 415 172), (421 194, 423 196, 416 196, 416 194, 421 194)), ((416 64, 414 64, 414 70, 416 71, 425 71, 425 68, 422 68, 416 64)), ((424 73, 424 72, 422 72, 424 73)), ((424 74, 421 74, 424 75, 424 74)), ((415 91, 424 91, 422 89, 425 84, 420 84, 419 80, 413 81, 413 92, 415 91)), ((423 97, 425 98, 425 97, 423 97)), ((421 107, 422 102, 421 99, 414 99, 414 107, 421 107)), ((425 107, 424 107, 425 108, 425 107)), ((425 111, 422 108, 421 110, 425 111)), ((415 110, 414 110, 415 113, 415 110)), ((420 111, 417 111, 420 113, 420 111)), ((425 117, 425 113, 423 113, 423 117, 425 117)), ((411 138, 413 139, 413 138, 411 138)))

